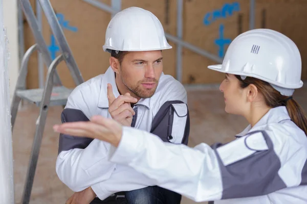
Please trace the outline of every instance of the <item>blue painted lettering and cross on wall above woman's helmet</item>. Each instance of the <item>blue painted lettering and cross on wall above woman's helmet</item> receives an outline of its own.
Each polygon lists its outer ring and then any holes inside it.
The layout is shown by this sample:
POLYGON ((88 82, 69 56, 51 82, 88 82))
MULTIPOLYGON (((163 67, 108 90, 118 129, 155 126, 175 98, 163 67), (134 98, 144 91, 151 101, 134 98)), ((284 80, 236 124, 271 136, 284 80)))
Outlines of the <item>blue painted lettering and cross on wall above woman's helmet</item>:
MULTIPOLYGON (((231 17, 235 12, 240 11, 240 5, 238 2, 233 3, 226 3, 222 6, 222 8, 213 10, 212 12, 208 12, 205 14, 205 17, 203 19, 203 23, 208 26, 214 21, 221 19, 221 18, 227 18, 231 17)), ((214 40, 214 43, 218 46, 218 57, 224 56, 224 50, 225 46, 231 43, 231 39, 224 38, 224 25, 220 24, 219 28, 219 38, 216 38, 214 40)))

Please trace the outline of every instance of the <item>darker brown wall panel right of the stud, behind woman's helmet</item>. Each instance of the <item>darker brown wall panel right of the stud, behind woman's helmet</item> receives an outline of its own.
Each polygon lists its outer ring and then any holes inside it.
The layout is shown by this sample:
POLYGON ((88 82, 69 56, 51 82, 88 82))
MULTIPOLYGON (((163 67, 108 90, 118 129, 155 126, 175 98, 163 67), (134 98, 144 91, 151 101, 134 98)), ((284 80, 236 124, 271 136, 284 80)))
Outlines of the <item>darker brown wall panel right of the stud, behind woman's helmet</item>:
POLYGON ((307 1, 257 0, 257 28, 273 29, 291 38, 298 46, 302 59, 302 79, 307 80, 307 1))

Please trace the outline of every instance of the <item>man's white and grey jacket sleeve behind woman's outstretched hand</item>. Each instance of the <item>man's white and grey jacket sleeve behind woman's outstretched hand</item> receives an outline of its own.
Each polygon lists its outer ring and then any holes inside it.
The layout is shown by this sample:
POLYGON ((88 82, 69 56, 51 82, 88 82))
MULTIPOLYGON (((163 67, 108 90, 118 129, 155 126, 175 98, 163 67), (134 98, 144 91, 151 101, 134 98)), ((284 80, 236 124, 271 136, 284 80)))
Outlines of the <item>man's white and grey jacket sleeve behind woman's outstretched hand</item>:
MULTIPOLYGON (((64 109, 62 122, 89 120, 80 110, 64 109)), ((60 135, 56 172, 73 191, 81 191, 108 179, 116 164, 107 161, 110 145, 91 138, 60 135)))

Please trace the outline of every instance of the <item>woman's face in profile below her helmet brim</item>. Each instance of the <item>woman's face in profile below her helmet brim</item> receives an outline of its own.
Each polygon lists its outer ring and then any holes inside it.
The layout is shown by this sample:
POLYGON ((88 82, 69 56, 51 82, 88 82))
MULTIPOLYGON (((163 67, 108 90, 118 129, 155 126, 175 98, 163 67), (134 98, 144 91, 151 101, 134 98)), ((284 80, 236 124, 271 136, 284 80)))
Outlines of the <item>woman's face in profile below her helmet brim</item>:
POLYGON ((225 111, 230 114, 243 115, 247 107, 247 94, 240 87, 239 80, 233 74, 226 74, 220 85, 224 93, 225 111))

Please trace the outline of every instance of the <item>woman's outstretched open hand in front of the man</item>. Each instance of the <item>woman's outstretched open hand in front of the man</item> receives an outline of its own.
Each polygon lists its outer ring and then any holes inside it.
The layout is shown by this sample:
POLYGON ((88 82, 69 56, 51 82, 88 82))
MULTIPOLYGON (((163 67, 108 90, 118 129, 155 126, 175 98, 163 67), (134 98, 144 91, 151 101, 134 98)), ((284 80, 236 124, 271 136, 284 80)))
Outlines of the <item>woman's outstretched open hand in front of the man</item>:
POLYGON ((93 116, 90 121, 65 122, 56 124, 53 130, 58 133, 99 139, 117 147, 122 137, 122 126, 113 119, 93 116))

